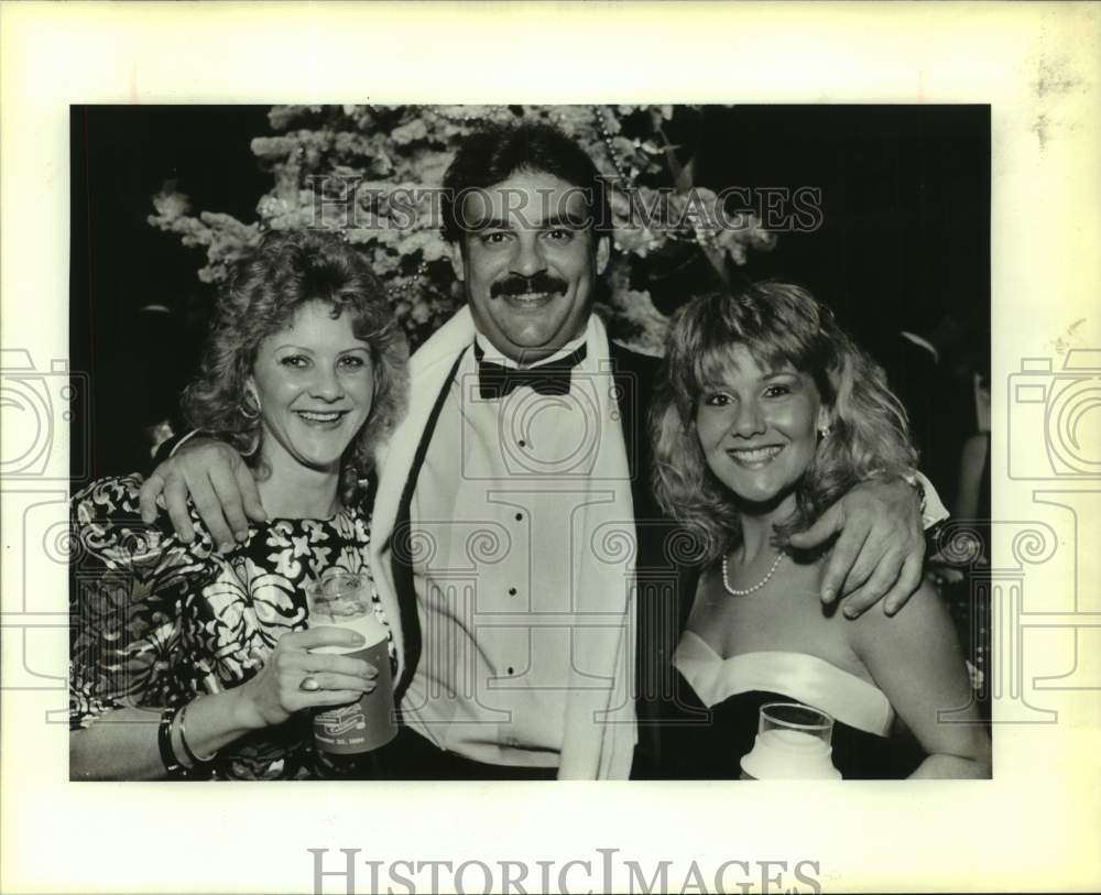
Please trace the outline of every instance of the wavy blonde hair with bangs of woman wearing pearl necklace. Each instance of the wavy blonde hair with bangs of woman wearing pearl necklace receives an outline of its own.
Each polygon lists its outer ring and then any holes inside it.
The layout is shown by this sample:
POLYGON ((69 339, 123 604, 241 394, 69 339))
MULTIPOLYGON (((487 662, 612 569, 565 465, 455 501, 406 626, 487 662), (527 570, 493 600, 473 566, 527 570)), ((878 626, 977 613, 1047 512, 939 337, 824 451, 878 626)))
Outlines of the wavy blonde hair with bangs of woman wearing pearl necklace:
POLYGON ((814 379, 831 417, 796 485, 797 509, 777 541, 808 528, 858 482, 913 471, 906 412, 880 367, 807 291, 756 283, 694 298, 676 315, 651 410, 653 484, 662 509, 699 541, 705 560, 741 536, 737 498, 711 472, 696 434, 704 389, 722 380, 735 346, 765 370, 791 364, 814 379))

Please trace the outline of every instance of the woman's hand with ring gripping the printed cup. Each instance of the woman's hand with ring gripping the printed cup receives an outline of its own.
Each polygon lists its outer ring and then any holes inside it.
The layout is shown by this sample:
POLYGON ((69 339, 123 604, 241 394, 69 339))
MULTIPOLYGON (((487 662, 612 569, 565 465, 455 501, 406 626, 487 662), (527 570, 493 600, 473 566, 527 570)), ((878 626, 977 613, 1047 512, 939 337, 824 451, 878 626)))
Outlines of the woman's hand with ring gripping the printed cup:
POLYGON ((303 709, 341 706, 371 692, 379 675, 371 664, 309 652, 321 646, 355 648, 363 643, 355 631, 325 625, 284 634, 255 677, 239 688, 244 727, 282 724, 303 709))

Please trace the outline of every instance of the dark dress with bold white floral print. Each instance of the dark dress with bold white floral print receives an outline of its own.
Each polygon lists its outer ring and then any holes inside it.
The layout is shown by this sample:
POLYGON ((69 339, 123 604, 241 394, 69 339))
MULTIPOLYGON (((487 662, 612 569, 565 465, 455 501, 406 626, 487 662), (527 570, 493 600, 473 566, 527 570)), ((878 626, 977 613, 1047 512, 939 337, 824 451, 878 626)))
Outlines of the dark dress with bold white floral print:
MULTIPOLYGON (((371 580, 368 520, 358 507, 329 520, 251 524, 220 555, 190 507, 183 544, 164 514, 141 521, 139 476, 94 482, 73 499, 69 588, 69 727, 87 728, 123 707, 183 706, 254 676, 279 638, 306 627, 304 585, 326 569, 371 580)), ((391 663, 395 662, 393 638, 391 663)), ((224 747, 212 777, 295 779, 355 774, 353 763, 314 749, 308 712, 224 747)))

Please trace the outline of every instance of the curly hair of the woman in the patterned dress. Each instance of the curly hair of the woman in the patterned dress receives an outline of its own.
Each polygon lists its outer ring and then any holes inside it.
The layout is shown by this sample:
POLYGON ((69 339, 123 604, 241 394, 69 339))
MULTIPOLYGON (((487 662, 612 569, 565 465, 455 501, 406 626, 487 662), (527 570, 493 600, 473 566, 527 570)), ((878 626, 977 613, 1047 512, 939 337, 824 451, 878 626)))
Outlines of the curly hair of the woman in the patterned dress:
POLYGON ((373 476, 375 450, 405 413, 408 343, 370 264, 336 233, 272 231, 235 265, 219 292, 199 371, 184 390, 182 405, 192 426, 258 463, 260 418, 246 392, 257 351, 315 301, 331 305, 334 318, 349 315, 356 338, 368 345, 374 374, 371 412, 341 459, 340 495, 348 505, 362 498, 360 480, 373 476))

